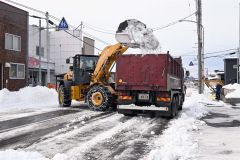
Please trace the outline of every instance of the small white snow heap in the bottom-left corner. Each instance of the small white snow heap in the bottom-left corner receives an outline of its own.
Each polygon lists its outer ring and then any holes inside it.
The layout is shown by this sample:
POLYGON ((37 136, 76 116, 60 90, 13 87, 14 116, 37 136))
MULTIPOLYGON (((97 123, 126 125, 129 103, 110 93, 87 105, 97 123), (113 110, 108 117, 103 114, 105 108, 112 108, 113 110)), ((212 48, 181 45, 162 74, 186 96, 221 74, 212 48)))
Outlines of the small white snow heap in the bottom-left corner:
POLYGON ((0 160, 49 160, 38 152, 17 151, 13 149, 0 151, 0 160))

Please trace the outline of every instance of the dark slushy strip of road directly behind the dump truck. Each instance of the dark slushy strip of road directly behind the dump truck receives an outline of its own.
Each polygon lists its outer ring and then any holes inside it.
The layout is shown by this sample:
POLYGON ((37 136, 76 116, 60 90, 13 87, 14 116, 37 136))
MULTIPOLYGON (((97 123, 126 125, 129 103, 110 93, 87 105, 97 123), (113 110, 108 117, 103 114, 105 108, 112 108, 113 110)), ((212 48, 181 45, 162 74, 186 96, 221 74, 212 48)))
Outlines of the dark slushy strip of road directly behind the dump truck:
POLYGON ((105 142, 97 144, 98 147, 91 148, 85 153, 83 159, 140 159, 145 153, 150 152, 149 142, 161 135, 167 124, 168 120, 166 119, 138 117, 137 124, 125 128, 105 142))

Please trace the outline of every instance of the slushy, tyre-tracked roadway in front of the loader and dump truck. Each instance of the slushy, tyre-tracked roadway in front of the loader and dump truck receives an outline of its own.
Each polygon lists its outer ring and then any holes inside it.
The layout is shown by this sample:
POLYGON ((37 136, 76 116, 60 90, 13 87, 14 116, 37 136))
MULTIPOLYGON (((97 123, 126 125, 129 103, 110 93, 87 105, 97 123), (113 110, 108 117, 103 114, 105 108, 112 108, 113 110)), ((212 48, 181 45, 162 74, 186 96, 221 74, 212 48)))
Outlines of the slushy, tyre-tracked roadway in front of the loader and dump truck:
POLYGON ((93 112, 85 105, 21 114, 0 119, 0 149, 33 150, 47 158, 65 153, 81 159, 140 159, 169 121, 93 112))

